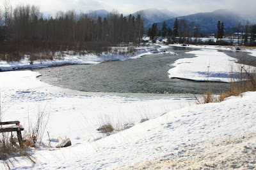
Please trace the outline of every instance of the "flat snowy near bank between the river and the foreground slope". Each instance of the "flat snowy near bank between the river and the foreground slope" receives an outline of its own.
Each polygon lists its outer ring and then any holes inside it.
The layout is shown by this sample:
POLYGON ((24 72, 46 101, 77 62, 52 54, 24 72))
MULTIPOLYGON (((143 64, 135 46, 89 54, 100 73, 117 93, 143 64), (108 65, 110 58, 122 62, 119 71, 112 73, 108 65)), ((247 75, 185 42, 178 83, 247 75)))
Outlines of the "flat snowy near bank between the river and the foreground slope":
MULTIPOLYGON (((27 130, 29 122, 35 122, 38 111, 45 110, 50 113, 47 131, 52 138, 51 145, 55 146, 58 138, 67 136, 72 141, 72 147, 85 147, 83 152, 86 154, 104 146, 104 141, 100 139, 105 135, 96 131, 102 125, 102 118, 110 118, 114 127, 129 123, 136 125, 141 118, 156 118, 170 110, 193 104, 192 97, 182 95, 144 99, 122 94, 77 92, 52 87, 36 79, 36 76, 38 73, 32 71, 0 72, 1 120, 19 120, 27 130)), ((49 143, 47 135, 43 141, 49 143)), ((55 155, 48 149, 35 152, 35 155, 40 154, 42 157, 55 155)), ((23 163, 20 165, 24 166, 23 163)))

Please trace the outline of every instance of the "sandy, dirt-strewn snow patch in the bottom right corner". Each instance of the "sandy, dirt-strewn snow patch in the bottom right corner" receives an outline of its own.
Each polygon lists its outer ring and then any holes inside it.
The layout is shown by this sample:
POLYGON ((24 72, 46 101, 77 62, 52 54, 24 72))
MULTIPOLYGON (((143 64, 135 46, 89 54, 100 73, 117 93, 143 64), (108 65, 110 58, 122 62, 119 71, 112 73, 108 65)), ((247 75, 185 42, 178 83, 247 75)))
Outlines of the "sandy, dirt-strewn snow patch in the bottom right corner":
POLYGON ((256 133, 184 146, 166 157, 122 169, 256 169, 256 133))

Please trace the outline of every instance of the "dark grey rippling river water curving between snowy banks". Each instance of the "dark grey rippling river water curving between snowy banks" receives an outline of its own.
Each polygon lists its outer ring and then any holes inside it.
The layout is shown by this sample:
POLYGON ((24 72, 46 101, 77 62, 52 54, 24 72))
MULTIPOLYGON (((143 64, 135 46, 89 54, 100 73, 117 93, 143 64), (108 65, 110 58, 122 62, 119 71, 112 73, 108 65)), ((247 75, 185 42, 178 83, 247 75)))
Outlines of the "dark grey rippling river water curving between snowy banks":
MULTIPOLYGON (((175 60, 195 57, 188 54, 193 48, 170 47, 176 54, 146 55, 139 59, 108 61, 36 69, 40 79, 51 85, 84 92, 204 94, 206 84, 170 79, 168 70, 175 60)), ((237 55, 227 52, 228 55, 237 55)), ((211 83, 212 93, 227 90, 228 83, 211 83)))

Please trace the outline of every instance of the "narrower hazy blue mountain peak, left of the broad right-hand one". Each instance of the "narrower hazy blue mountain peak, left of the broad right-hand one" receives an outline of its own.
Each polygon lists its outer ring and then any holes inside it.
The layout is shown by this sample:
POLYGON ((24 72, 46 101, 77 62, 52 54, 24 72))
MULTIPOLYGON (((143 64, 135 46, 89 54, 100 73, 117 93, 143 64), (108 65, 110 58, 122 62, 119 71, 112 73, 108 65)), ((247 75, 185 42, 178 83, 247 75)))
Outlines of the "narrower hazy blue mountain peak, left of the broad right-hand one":
POLYGON ((151 27, 155 22, 163 22, 164 20, 168 20, 177 16, 175 13, 172 13, 167 9, 158 10, 157 8, 137 11, 136 13, 132 13, 132 16, 137 17, 138 14, 141 14, 141 17, 144 18, 145 28, 151 27))

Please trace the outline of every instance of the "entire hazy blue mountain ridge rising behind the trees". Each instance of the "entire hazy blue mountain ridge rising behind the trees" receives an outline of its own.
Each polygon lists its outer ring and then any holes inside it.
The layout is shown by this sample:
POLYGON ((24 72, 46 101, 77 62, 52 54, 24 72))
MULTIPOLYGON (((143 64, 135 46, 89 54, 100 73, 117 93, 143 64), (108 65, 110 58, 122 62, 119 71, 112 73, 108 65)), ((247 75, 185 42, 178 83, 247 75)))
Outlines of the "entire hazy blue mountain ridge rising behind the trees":
MULTIPOLYGON (((90 14, 97 17, 99 16, 103 20, 103 18, 107 17, 109 13, 110 12, 106 10, 96 10, 90 14)), ((225 31, 228 31, 228 29, 232 27, 236 27, 239 24, 239 22, 243 24, 244 21, 248 20, 247 18, 236 15, 234 11, 226 9, 179 16, 176 13, 167 10, 166 8, 162 10, 159 10, 157 8, 148 8, 145 10, 136 11, 131 15, 137 17, 138 14, 140 14, 141 17, 144 19, 145 31, 147 31, 147 29, 150 28, 154 23, 157 23, 157 25, 159 25, 159 29, 161 29, 161 25, 163 24, 163 22, 166 22, 168 27, 173 28, 173 24, 176 18, 184 18, 188 23, 195 22, 195 24, 199 24, 201 26, 201 32, 204 33, 216 32, 216 25, 219 20, 220 22, 224 23, 225 31)), ((127 15, 126 17, 129 17, 129 15, 127 15)), ((250 20, 250 23, 255 24, 256 22, 250 20)))

